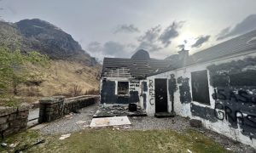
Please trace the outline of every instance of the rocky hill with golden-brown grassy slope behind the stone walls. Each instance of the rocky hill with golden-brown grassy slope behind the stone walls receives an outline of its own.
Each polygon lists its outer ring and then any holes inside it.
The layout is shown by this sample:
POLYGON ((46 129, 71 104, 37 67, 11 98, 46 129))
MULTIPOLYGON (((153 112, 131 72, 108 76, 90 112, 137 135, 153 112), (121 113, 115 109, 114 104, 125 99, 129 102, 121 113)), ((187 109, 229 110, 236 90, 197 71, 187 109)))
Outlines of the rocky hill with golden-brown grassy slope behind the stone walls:
MULTIPOLYGON (((90 57, 73 37, 44 20, 0 21, 0 45, 20 49, 24 54, 37 51, 51 59, 40 85, 20 87, 20 96, 71 94, 74 88, 84 94, 99 86, 101 65, 90 57)), ((35 68, 33 71, 42 71, 35 68)))

